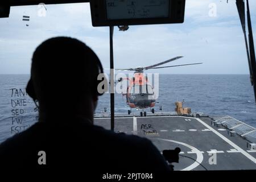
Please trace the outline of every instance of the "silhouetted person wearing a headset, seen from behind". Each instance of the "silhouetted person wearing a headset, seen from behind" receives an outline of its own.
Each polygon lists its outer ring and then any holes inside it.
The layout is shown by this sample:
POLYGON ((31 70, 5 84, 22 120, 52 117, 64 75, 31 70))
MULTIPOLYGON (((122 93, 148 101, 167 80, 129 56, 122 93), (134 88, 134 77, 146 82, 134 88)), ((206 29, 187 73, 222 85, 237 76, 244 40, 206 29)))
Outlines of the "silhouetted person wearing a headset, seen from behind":
POLYGON ((93 125, 101 72, 96 54, 77 39, 58 37, 40 44, 27 85, 28 94, 39 102, 39 121, 0 145, 0 166, 168 170, 150 140, 93 125), (45 165, 38 163, 39 151, 46 152, 45 165))

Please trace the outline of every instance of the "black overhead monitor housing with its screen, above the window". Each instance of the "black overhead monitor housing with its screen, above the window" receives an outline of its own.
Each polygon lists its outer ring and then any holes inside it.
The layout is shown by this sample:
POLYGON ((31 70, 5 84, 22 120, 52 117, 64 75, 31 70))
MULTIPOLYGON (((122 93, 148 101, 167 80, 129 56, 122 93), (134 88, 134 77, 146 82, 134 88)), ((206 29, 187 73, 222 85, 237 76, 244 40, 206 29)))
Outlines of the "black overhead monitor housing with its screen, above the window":
POLYGON ((94 0, 90 10, 94 27, 183 23, 185 0, 94 0))

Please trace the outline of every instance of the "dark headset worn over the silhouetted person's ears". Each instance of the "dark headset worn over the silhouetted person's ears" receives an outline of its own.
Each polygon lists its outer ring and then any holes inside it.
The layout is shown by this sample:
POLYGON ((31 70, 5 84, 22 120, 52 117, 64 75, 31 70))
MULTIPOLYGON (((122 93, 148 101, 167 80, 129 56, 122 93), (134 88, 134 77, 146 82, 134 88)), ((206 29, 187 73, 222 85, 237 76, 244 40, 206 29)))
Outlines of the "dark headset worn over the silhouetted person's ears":
MULTIPOLYGON (((97 96, 102 96, 105 92, 108 91, 108 81, 107 81, 107 78, 105 77, 104 75, 104 69, 102 67, 102 64, 101 64, 101 61, 100 59, 98 59, 98 56, 96 55, 96 53, 94 53, 92 51, 92 49, 90 49, 88 46, 86 46, 87 49, 89 49, 89 52, 90 52, 90 60, 94 60, 96 61, 96 64, 97 64, 97 67, 99 69, 99 74, 102 73, 103 75, 103 80, 98 80, 97 76, 95 79, 95 81, 93 82, 93 90, 92 90, 92 93, 96 93, 97 96), (102 89, 103 89, 103 93, 99 93, 98 92, 98 84, 100 84, 100 82, 102 81, 105 81, 105 84, 102 86, 102 89)), ((30 96, 35 104, 36 104, 36 100, 37 100, 37 97, 36 97, 36 93, 35 93, 35 89, 34 89, 34 84, 33 84, 33 81, 32 81, 32 77, 30 77, 30 80, 28 81, 27 83, 27 86, 26 86, 26 92, 28 94, 28 96, 30 96)))

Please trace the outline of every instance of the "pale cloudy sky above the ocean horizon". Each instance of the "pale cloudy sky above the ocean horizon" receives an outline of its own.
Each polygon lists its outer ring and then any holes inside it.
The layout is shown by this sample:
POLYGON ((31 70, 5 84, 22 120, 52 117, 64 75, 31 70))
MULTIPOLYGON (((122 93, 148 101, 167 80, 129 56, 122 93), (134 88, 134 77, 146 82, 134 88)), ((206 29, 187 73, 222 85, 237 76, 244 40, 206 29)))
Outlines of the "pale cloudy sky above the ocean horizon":
MULTIPOLYGON (((250 6, 255 40, 256 1, 250 6)), ((40 8, 11 7, 10 17, 0 19, 0 74, 29 74, 35 48, 53 36, 80 39, 109 68, 109 27, 92 27, 89 3, 47 5, 46 16, 38 16, 40 8), (30 21, 23 21, 23 15, 30 21)), ((176 56, 184 58, 166 65, 204 64, 153 73, 249 74, 235 1, 187 0, 183 24, 130 26, 125 32, 115 27, 115 68, 143 67, 176 56)))

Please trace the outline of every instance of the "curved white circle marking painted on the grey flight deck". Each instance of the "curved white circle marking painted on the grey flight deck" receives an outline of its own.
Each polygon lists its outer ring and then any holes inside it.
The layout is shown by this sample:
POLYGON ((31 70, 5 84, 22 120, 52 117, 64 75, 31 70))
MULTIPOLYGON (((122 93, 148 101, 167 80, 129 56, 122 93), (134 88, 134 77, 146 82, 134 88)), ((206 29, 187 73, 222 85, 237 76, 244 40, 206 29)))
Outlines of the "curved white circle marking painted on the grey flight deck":
POLYGON ((191 148, 191 151, 195 151, 195 154, 196 154, 196 162, 194 162, 193 164, 191 164, 190 166, 188 166, 188 167, 186 167, 186 168, 184 168, 184 169, 181 169, 180 171, 191 171, 192 169, 196 168, 197 166, 199 166, 199 165, 203 162, 204 156, 203 156, 203 154, 201 153, 201 151, 198 150, 196 147, 190 146, 190 145, 187 144, 187 143, 177 142, 177 141, 175 141, 175 140, 162 139, 162 138, 158 138, 158 139, 164 140, 164 141, 167 141, 167 142, 174 142, 174 143, 177 143, 177 144, 182 144, 182 145, 185 146, 185 147, 191 148))

